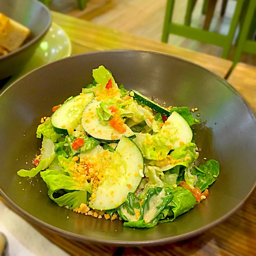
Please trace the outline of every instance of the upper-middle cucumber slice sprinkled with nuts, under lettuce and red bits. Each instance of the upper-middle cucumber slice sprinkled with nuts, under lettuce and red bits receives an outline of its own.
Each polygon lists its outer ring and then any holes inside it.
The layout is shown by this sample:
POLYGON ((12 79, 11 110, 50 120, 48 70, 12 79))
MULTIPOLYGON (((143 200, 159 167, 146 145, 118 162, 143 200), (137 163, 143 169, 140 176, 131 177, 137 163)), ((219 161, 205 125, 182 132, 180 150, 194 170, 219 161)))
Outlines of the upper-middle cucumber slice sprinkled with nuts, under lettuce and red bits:
POLYGON ((83 129, 95 139, 105 142, 118 142, 124 135, 128 138, 134 138, 134 132, 125 124, 125 133, 119 133, 111 125, 106 123, 102 124, 97 114, 97 107, 100 107, 101 101, 93 99, 85 108, 82 114, 82 125, 83 129), (115 138, 113 138, 115 137, 115 138))

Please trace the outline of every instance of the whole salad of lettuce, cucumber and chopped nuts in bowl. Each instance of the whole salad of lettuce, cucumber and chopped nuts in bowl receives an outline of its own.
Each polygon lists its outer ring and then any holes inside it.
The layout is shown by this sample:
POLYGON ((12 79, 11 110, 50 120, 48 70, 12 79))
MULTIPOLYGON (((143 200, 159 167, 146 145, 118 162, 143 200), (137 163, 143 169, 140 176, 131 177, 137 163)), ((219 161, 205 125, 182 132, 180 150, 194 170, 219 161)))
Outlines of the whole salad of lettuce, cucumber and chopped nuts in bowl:
POLYGON ((173 221, 206 199, 219 164, 194 164, 199 153, 191 126, 201 121, 187 107, 165 108, 118 87, 104 66, 93 78, 42 117, 36 167, 18 175, 40 173, 59 206, 133 228, 173 221))

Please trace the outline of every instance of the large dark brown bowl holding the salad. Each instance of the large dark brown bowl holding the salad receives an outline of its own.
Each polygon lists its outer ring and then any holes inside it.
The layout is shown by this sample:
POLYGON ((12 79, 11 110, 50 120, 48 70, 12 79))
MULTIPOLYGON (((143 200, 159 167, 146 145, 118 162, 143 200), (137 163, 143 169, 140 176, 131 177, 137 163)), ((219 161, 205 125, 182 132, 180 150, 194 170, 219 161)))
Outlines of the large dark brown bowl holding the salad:
MULTIPOLYGON (((144 51, 110 51, 72 56, 25 75, 0 96, 0 188, 3 197, 30 221, 81 241, 119 246, 170 243, 198 235, 233 214, 256 181, 256 120, 250 107, 226 81, 191 62, 144 51), (39 152, 35 131, 51 108, 92 82, 92 69, 104 65, 125 88, 158 102, 198 107, 205 125, 194 125, 203 158, 216 159, 221 172, 209 196, 174 222, 151 229, 123 227, 121 221, 96 219, 57 206, 39 178, 21 178, 39 152), (26 161, 29 164, 26 164, 26 161), (21 182, 21 184, 19 184, 21 182), (24 189, 24 190, 23 190, 24 189), (42 191, 42 192, 40 192, 42 191), (67 219, 67 216, 69 217, 67 219)), ((194 113, 195 114, 195 113, 194 113)))

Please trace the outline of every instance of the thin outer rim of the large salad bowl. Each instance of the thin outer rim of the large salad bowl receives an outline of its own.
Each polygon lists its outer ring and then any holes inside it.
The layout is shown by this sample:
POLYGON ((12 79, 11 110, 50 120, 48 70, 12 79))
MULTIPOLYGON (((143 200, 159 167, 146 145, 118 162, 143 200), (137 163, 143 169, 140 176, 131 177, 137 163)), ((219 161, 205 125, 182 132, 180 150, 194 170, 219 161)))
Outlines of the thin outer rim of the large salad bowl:
MULTIPOLYGON (((90 52, 90 53, 82 53, 82 54, 76 54, 76 55, 71 55, 67 58, 76 58, 76 56, 82 56, 82 55, 89 55, 89 54, 101 54, 102 52, 108 52, 108 53, 116 53, 116 52, 139 52, 139 53, 153 53, 153 54, 159 54, 159 55, 165 55, 174 59, 177 59, 179 61, 182 62, 189 62, 195 66, 201 67, 207 71, 209 71, 215 78, 217 78, 218 80, 221 80, 224 86, 226 86, 227 88, 231 89, 233 91, 233 93, 235 93, 236 95, 238 95, 243 103, 246 105, 247 109, 251 112, 251 116, 254 118, 254 122, 256 125, 256 112, 253 110, 253 108, 251 107, 250 103, 245 99, 245 97, 237 90, 235 89, 235 87, 233 87, 229 82, 227 82, 224 78, 221 78, 219 75, 215 74, 213 71, 200 66, 194 62, 191 61, 187 61, 186 59, 183 58, 179 58, 173 55, 169 55, 169 54, 163 54, 163 53, 158 53, 158 52, 154 52, 154 51, 144 51, 144 50, 110 50, 110 51, 94 51, 94 52, 90 52)), ((59 62, 59 61, 63 61, 66 58, 62 58, 59 59, 57 61, 54 62, 59 62)), ((54 63, 51 62, 51 63, 54 63)), ((48 63, 46 65, 43 65, 41 67, 38 67, 37 69, 40 69, 44 66, 50 65, 51 63, 48 63)), ((2 91, 2 93, 0 94, 0 98, 3 95, 3 93, 8 90, 10 87, 12 87, 13 85, 15 85, 15 83, 17 83, 19 80, 23 79, 23 77, 29 75, 30 73, 36 71, 37 69, 34 69, 32 71, 30 71, 29 73, 23 75, 21 78, 17 79, 14 83, 12 83, 10 86, 8 86, 4 91, 2 91)), ((188 233, 182 234, 182 235, 177 235, 174 237, 167 237, 167 238, 161 238, 161 239, 157 239, 157 240, 145 240, 145 241, 122 241, 122 240, 110 240, 110 239, 97 239, 97 238, 91 238, 91 237, 85 237, 84 235, 79 235, 79 234, 74 234, 70 231, 66 231, 63 230, 61 228, 57 228, 54 227, 44 221, 41 221, 40 219, 34 217, 33 215, 27 213, 25 210, 23 210, 21 207, 19 207, 18 205, 16 205, 5 193, 3 193, 3 191, 0 188, 0 195, 2 195, 2 197, 9 203, 9 205, 15 210, 15 212, 18 212, 20 215, 22 215, 23 217, 25 217, 26 219, 28 219, 29 221, 35 223, 38 226, 42 226, 46 229, 49 229, 55 233, 58 233, 59 235, 62 235, 66 238, 71 238, 77 241, 82 241, 82 242, 93 242, 93 243, 101 243, 104 245, 111 245, 111 246, 119 246, 119 247, 133 247, 133 246, 157 246, 157 245, 164 245, 167 243, 175 243, 175 242, 179 242, 182 240, 186 240, 189 239, 191 237, 197 236, 202 234, 203 232, 209 230, 210 228, 218 225, 219 223, 225 221, 227 218, 229 218, 231 215, 233 215, 237 210, 239 210, 243 204, 247 201, 247 199, 251 196, 251 194, 253 193, 253 191, 256 189, 256 181, 253 185, 253 187, 251 188, 250 192, 246 195, 246 197, 238 204, 236 205, 231 211, 229 211, 228 213, 226 213, 225 215, 223 215, 221 218, 218 218, 217 220, 209 223, 208 225, 205 225, 199 229, 196 229, 194 231, 190 231, 188 233)))

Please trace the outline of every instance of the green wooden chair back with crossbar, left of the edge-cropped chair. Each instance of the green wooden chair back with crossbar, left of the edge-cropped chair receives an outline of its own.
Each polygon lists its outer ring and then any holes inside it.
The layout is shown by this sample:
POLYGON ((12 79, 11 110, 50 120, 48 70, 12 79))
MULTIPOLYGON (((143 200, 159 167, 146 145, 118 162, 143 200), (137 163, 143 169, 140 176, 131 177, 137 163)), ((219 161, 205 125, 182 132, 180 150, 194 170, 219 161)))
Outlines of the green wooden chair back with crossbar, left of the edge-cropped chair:
MULTIPOLYGON (((210 1, 210 0, 209 0, 210 1)), ((184 25, 173 23, 172 22, 172 15, 173 15, 173 7, 175 0, 167 0, 166 3, 166 10, 165 10, 165 19, 164 19, 164 26, 163 26, 163 33, 162 33, 162 42, 167 43, 169 34, 175 34, 182 37, 190 38, 197 40, 202 43, 209 43, 212 45, 217 45, 223 48, 222 51, 222 58, 227 58, 230 48, 232 46, 232 41, 234 38, 235 30, 238 25, 238 21, 243 9, 243 3, 246 0, 237 0, 237 5, 235 8, 235 13, 233 15, 229 33, 228 35, 221 35, 215 32, 210 32, 207 30, 197 29, 194 27, 190 27, 188 24, 190 24, 189 19, 191 20, 191 17, 189 18, 189 15, 186 13, 184 25), (186 25, 187 24, 187 25, 186 25)), ((255 1, 255 0, 253 0, 255 1)), ((195 6, 196 0, 188 0, 188 8, 190 10, 193 10, 195 6)))

